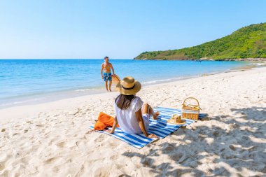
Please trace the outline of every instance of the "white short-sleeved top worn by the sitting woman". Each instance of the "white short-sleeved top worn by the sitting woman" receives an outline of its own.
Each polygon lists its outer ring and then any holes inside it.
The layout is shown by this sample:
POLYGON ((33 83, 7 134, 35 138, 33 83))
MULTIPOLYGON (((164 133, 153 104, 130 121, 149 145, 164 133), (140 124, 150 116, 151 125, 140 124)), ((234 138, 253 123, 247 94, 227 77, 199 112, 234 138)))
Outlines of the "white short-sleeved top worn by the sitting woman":
MULTIPOLYGON (((118 119, 118 125, 123 132, 129 134, 141 134, 141 128, 139 127, 139 122, 136 118, 136 112, 142 107, 144 102, 139 97, 134 97, 130 103, 130 107, 124 110, 118 108, 115 104, 116 108, 116 118, 118 119)), ((146 131, 148 131, 149 122, 146 116, 143 116, 144 125, 146 131)))

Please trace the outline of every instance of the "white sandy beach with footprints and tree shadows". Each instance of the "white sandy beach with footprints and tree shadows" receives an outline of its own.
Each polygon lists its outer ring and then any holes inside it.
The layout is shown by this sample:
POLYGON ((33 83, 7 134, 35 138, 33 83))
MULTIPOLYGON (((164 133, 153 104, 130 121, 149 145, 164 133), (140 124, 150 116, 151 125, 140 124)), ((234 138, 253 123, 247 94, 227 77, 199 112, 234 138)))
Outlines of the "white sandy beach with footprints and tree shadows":
POLYGON ((152 106, 200 100, 206 121, 141 150, 88 127, 116 92, 0 110, 0 176, 264 176, 266 68, 144 87, 152 106))

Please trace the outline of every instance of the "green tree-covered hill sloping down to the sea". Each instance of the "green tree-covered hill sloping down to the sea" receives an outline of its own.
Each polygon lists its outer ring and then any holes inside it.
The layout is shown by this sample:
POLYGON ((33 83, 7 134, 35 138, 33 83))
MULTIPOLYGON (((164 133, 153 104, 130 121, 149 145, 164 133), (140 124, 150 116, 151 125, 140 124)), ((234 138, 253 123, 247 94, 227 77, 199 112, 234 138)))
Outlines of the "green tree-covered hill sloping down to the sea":
POLYGON ((266 23, 251 24, 223 38, 179 50, 143 52, 135 59, 266 58, 266 23))

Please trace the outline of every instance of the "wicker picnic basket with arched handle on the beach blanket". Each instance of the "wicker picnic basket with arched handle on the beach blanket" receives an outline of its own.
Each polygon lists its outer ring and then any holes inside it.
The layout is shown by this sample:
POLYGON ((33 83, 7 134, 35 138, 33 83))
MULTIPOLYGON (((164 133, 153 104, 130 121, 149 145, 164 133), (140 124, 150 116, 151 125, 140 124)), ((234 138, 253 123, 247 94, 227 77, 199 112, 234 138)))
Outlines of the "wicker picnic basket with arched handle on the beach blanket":
POLYGON ((188 97, 183 102, 182 118, 198 120, 200 115, 200 103, 193 97, 188 97), (187 101, 194 99, 197 104, 187 104, 187 101))

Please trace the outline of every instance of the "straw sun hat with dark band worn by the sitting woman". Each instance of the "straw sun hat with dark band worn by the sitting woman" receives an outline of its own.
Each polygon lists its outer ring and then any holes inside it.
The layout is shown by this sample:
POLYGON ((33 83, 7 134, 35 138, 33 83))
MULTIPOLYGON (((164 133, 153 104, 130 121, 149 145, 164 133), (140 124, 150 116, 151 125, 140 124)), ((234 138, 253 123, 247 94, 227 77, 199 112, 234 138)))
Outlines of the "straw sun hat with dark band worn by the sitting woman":
POLYGON ((125 95, 136 94, 141 90, 141 83, 134 80, 131 76, 127 76, 116 85, 116 90, 125 95))

